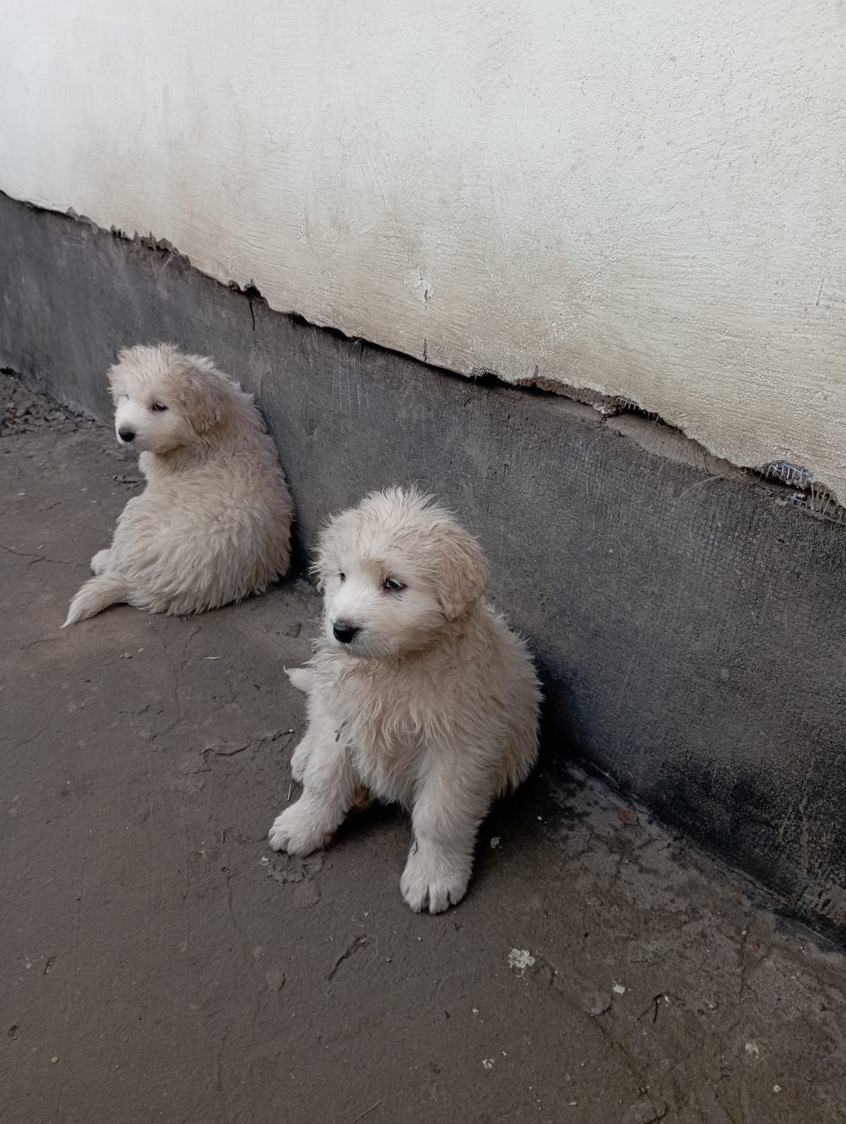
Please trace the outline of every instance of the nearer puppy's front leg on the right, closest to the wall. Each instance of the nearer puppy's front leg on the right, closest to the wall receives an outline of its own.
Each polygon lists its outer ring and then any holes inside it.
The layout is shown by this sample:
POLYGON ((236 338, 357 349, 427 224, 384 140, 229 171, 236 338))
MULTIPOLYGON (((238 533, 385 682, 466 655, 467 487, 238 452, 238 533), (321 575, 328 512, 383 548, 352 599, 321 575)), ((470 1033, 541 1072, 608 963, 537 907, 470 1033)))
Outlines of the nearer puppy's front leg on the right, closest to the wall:
POLYGON ((452 746, 432 754, 414 801, 414 843, 399 890, 415 913, 426 907, 442 913, 465 896, 476 832, 490 805, 489 779, 484 773, 465 776, 458 786, 450 761, 456 761, 452 746))

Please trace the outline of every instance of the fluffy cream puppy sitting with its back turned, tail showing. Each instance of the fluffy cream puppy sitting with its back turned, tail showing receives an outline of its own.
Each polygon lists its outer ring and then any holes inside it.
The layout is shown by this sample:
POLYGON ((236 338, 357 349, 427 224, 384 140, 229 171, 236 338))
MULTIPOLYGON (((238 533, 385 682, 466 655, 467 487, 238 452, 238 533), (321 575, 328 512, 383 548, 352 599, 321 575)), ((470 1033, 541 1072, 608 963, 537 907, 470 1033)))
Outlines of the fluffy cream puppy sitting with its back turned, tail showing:
POLYGON ((187 614, 262 592, 288 569, 294 508, 252 395, 169 344, 122 351, 109 386, 118 441, 141 452, 147 486, 63 627, 118 601, 187 614))

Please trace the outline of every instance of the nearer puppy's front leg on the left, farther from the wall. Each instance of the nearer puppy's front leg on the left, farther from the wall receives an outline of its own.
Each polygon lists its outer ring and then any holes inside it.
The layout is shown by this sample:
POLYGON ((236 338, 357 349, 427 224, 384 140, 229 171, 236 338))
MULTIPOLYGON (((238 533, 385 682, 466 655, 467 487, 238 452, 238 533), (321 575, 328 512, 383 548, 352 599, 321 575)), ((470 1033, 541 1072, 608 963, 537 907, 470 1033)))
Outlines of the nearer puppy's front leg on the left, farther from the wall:
POLYGON ((269 835, 273 851, 310 854, 328 843, 350 810, 358 777, 350 746, 335 736, 335 723, 325 716, 312 719, 303 740, 310 741, 303 795, 273 821, 269 835))

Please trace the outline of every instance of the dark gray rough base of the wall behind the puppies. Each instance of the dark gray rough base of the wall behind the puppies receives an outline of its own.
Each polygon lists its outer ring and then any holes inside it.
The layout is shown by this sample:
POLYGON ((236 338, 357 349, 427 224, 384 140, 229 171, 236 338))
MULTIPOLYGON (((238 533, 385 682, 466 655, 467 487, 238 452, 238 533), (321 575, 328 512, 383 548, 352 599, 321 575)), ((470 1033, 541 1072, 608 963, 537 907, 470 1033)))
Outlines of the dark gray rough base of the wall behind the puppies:
POLYGON ((0 197, 0 365, 106 418, 118 347, 172 341, 256 393, 307 544, 416 481, 482 537, 546 681, 546 744, 846 932, 846 528, 554 396, 270 311, 166 250, 0 197))

